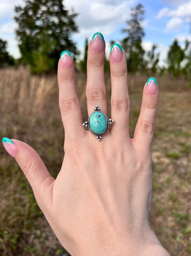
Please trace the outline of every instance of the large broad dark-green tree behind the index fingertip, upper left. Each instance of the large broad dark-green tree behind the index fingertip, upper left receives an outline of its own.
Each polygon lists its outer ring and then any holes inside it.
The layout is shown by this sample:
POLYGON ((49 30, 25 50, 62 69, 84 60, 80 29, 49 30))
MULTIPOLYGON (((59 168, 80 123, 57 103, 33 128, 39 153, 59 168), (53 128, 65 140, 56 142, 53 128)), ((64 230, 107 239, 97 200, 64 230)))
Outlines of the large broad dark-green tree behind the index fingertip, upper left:
POLYGON ((62 0, 27 0, 25 6, 15 6, 18 24, 16 37, 22 55, 21 62, 34 72, 57 69, 63 50, 79 54, 71 34, 77 32, 76 13, 69 14, 62 0))

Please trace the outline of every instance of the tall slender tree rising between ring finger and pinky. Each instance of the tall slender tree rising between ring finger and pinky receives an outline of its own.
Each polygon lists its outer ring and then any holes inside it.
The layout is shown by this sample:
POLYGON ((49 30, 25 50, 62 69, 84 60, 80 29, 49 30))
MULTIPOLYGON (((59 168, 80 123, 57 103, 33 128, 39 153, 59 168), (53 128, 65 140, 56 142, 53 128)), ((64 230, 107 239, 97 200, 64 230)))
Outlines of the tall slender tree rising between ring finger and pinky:
POLYGON ((143 69, 144 49, 142 39, 145 35, 142 28, 144 19, 144 7, 138 4, 131 9, 130 19, 126 21, 127 27, 122 30, 127 36, 121 41, 121 45, 126 52, 128 70, 136 72, 143 69))

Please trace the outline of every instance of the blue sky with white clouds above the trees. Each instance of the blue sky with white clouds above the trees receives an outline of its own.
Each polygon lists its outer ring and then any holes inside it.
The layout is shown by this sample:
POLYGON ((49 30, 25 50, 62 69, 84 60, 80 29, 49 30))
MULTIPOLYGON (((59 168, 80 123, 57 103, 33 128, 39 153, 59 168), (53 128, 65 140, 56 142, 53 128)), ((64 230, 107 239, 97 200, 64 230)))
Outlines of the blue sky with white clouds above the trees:
MULTIPOLYGON (((19 58, 20 53, 14 32, 17 27, 14 6, 22 6, 24 2, 0 0, 0 38, 8 42, 7 50, 15 58, 19 58)), ((67 10, 78 13, 75 22, 79 32, 73 34, 72 39, 81 56, 85 39, 91 40, 94 33, 101 32, 106 42, 106 58, 109 58, 110 41, 120 43, 125 37, 121 30, 130 18, 130 9, 138 3, 145 9, 143 48, 148 51, 153 44, 158 46, 160 66, 165 65, 169 46, 175 38, 182 48, 186 39, 191 41, 191 0, 64 0, 67 10)))

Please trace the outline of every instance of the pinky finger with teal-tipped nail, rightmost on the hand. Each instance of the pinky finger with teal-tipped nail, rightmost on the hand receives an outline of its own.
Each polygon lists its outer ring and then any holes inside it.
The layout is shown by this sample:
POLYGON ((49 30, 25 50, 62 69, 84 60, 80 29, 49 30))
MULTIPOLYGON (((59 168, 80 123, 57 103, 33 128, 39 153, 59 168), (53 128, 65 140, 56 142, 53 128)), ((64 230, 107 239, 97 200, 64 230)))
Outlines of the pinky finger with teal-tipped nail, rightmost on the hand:
POLYGON ((155 119, 158 107, 158 86, 154 77, 148 79, 143 89, 143 100, 140 115, 133 138, 137 151, 147 153, 151 149, 155 119))

